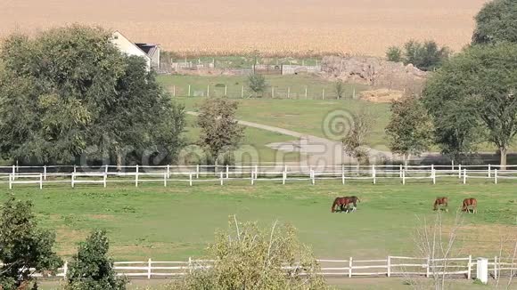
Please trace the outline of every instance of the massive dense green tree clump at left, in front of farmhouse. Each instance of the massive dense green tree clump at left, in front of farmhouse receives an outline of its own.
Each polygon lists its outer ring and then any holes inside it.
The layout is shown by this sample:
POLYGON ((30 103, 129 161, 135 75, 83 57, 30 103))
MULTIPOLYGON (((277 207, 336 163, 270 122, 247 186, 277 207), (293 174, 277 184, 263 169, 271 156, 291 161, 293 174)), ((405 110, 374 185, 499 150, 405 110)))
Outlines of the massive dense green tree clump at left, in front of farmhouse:
POLYGON ((182 110, 168 101, 144 61, 111 44, 108 31, 71 26, 35 38, 13 35, 1 51, 4 158, 70 164, 86 153, 121 157, 126 148, 136 155, 143 147, 176 153, 182 110))

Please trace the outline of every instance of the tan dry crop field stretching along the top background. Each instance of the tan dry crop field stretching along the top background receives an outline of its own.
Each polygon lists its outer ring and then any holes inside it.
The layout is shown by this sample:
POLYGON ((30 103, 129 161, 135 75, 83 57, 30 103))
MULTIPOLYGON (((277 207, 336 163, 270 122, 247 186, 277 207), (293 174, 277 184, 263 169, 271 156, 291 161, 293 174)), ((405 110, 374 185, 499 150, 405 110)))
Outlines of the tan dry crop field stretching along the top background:
POLYGON ((135 42, 187 53, 347 52, 384 55, 406 40, 470 43, 486 0, 7 1, 0 36, 80 22, 119 29, 135 42))

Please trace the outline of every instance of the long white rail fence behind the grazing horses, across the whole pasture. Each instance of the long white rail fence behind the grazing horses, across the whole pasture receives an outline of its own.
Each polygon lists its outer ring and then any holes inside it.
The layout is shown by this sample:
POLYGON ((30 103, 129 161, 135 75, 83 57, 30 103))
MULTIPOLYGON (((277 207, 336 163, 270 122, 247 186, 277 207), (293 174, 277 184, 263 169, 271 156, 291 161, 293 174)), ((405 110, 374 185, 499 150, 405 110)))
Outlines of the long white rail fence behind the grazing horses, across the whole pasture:
POLYGON ((439 181, 467 183, 470 180, 486 180, 497 183, 517 179, 517 165, 337 165, 324 168, 300 165, 132 165, 117 168, 115 165, 97 167, 79 166, 0 166, 0 184, 9 189, 15 186, 37 185, 43 189, 48 184, 70 184, 72 188, 83 184, 107 187, 108 183, 132 183, 135 187, 147 182, 168 186, 171 183, 211 182, 224 185, 232 181, 246 181, 251 185, 262 181, 286 184, 306 181, 335 180, 346 184, 349 181, 398 180, 401 184, 424 181, 436 184, 439 181), (118 170, 119 169, 119 170, 118 170))

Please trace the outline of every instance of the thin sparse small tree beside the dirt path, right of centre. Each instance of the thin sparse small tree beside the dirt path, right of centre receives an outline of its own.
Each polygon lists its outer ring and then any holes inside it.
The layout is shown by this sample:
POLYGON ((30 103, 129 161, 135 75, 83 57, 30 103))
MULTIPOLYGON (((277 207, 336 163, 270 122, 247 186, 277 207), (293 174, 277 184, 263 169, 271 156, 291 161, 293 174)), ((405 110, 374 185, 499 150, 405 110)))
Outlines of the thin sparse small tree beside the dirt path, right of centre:
POLYGON ((350 157, 357 158, 359 164, 369 162, 368 149, 365 148, 365 139, 371 133, 374 124, 373 116, 362 109, 354 114, 353 124, 349 127, 349 132, 342 139, 345 152, 350 157))

